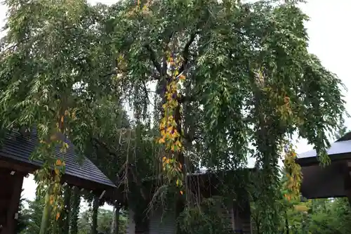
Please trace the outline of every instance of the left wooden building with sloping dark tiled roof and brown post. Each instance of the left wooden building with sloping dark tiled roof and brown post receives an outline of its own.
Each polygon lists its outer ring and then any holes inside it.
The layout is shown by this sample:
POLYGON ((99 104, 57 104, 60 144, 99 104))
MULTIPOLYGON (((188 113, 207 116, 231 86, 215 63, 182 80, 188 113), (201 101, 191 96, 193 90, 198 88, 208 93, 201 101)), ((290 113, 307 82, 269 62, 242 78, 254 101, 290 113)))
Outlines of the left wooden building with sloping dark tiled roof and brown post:
MULTIPOLYGON (((18 205, 23 178, 41 167, 39 160, 30 160, 38 144, 37 132, 28 134, 11 132, 6 134, 0 149, 0 227, 1 234, 14 234, 15 219, 18 218, 18 205)), ((90 160, 84 157, 79 164, 74 145, 67 140, 69 148, 65 155, 56 148, 56 157, 65 158, 65 174, 62 183, 94 193, 100 199, 106 192, 113 193, 116 186, 90 160)))

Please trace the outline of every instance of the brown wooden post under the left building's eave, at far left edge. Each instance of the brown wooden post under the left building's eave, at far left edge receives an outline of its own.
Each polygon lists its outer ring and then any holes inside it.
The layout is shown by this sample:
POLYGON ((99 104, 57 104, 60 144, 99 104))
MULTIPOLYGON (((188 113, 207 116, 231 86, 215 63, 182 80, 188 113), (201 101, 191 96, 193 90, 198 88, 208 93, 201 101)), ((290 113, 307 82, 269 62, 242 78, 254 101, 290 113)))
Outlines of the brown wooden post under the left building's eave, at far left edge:
POLYGON ((2 233, 15 234, 16 219, 18 219, 18 206, 20 205, 20 196, 22 192, 23 176, 20 174, 13 175, 13 191, 10 205, 6 214, 6 226, 2 233))

